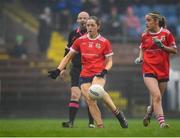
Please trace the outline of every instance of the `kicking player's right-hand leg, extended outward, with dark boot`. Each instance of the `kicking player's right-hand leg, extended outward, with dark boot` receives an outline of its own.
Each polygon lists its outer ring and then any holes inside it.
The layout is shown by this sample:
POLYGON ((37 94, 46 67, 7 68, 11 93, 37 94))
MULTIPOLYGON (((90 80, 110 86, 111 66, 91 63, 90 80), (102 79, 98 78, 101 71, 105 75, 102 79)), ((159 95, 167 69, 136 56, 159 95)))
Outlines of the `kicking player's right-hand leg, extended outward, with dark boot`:
MULTIPOLYGON (((105 84, 105 79, 99 78, 99 77, 94 77, 92 84, 99 84, 101 86, 104 86, 105 84)), ((103 96, 103 101, 104 103, 110 108, 110 110, 113 112, 113 114, 116 116, 118 121, 120 122, 120 125, 122 128, 128 128, 128 123, 127 120, 123 114, 122 111, 119 111, 117 107, 115 106, 114 102, 112 101, 111 97, 107 92, 105 92, 103 96)))

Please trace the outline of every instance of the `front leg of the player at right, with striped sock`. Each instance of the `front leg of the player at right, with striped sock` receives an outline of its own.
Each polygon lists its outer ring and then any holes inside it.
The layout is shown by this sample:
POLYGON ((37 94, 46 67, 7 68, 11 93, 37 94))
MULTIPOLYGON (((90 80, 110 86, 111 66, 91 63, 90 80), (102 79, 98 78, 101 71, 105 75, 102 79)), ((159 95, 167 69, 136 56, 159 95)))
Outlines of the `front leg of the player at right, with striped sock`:
POLYGON ((156 114, 157 121, 160 127, 165 124, 164 113, 162 109, 162 96, 159 89, 158 81, 153 77, 144 77, 144 83, 152 96, 154 113, 156 114))

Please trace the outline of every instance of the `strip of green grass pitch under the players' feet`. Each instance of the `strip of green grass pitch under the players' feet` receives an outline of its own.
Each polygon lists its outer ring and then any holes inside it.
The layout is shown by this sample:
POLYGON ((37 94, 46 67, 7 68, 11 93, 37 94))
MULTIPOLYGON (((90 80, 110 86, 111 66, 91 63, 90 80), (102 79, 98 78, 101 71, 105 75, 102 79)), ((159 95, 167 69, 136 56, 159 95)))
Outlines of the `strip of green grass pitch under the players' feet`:
POLYGON ((88 128, 87 119, 77 119, 74 128, 62 128, 60 119, 0 119, 3 137, 177 137, 180 120, 168 119, 169 129, 160 129, 155 120, 143 127, 142 120, 128 120, 122 129, 116 119, 104 119, 105 128, 88 128))

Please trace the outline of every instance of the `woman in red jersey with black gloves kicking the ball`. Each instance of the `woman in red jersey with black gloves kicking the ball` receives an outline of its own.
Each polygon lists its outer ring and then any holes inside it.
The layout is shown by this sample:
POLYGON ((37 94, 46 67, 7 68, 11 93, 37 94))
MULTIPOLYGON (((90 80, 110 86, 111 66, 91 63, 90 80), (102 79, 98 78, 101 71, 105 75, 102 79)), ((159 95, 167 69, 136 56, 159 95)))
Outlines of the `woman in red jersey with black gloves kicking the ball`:
MULTIPOLYGON (((56 70, 49 71, 49 76, 55 79, 74 57, 74 55, 81 53, 81 91, 86 99, 89 110, 96 122, 97 127, 102 128, 104 126, 97 102, 88 94, 89 88, 94 84, 104 87, 106 82, 106 74, 111 69, 113 62, 113 52, 110 42, 99 34, 100 27, 101 25, 99 19, 95 16, 91 16, 87 20, 86 24, 88 33, 75 40, 71 46, 70 52, 63 58, 56 70)), ((103 101, 115 114, 120 122, 121 127, 127 128, 128 124, 123 112, 117 109, 107 92, 105 92, 103 96, 103 101)))

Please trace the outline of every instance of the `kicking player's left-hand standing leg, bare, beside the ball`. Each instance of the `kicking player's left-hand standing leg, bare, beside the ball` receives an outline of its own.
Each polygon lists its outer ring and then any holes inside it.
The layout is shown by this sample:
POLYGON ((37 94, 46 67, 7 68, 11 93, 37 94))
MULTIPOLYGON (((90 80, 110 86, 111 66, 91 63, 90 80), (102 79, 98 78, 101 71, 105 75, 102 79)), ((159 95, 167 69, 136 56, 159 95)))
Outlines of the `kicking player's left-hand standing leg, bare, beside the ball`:
POLYGON ((101 119, 101 112, 99 110, 99 107, 97 105, 97 102, 95 100, 92 100, 89 97, 88 91, 89 91, 89 87, 91 86, 91 83, 83 83, 81 84, 81 92, 88 104, 90 113, 92 115, 92 117, 94 118, 97 127, 103 127, 103 121, 101 119))

